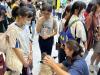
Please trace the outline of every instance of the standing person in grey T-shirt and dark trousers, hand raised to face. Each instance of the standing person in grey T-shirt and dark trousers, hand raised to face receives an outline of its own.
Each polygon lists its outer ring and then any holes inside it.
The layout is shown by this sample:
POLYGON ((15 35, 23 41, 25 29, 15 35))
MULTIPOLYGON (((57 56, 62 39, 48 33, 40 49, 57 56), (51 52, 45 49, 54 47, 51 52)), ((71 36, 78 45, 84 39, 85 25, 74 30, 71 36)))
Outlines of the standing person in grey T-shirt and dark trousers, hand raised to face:
POLYGON ((41 53, 51 55, 54 35, 57 34, 57 23, 51 16, 52 6, 44 4, 41 17, 37 21, 36 31, 39 33, 39 46, 41 53))

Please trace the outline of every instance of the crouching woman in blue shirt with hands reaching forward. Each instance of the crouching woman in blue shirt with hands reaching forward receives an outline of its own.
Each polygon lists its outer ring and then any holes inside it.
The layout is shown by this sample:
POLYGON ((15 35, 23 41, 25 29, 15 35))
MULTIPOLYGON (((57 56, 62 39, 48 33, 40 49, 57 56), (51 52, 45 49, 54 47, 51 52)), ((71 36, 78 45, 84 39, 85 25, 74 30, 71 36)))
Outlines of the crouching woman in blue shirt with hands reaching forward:
POLYGON ((67 59, 62 63, 55 63, 49 55, 44 57, 43 63, 49 65, 56 75, 89 75, 87 64, 81 55, 83 49, 76 41, 67 41, 64 51, 67 59), (66 68, 62 69, 63 67, 66 68))

